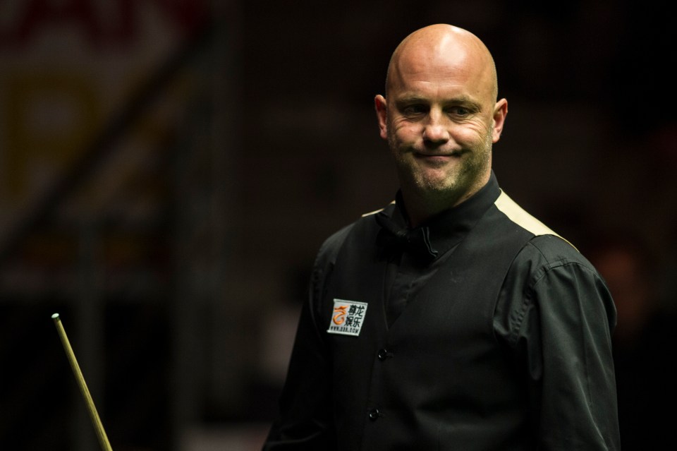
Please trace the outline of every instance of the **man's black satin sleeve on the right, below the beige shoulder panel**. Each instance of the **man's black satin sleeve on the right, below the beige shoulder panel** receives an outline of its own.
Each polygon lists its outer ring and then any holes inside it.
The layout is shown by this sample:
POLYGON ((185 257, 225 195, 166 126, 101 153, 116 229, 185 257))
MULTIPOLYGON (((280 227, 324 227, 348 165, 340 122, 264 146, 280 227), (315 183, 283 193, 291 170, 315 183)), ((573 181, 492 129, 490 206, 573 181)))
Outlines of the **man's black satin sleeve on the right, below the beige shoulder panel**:
POLYGON ((508 273, 495 324, 527 375, 538 449, 620 450, 609 290, 573 248, 548 258, 527 247, 508 273))

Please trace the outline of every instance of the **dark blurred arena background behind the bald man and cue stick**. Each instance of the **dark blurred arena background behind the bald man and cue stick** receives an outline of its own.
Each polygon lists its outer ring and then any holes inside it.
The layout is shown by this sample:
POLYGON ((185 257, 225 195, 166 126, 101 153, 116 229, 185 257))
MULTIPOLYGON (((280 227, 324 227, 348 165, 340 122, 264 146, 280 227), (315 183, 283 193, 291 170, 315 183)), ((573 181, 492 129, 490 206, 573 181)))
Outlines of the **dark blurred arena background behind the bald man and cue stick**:
MULTIPOLYGON (((0 449, 98 449, 55 312, 115 450, 258 449, 315 251, 394 196, 373 97, 396 44, 431 23, 494 54, 510 107, 494 150, 504 190, 599 261, 600 237, 637 236, 668 318, 665 8, 0 0, 0 449)), ((668 366, 671 337, 649 345, 668 366)), ((618 375, 646 398, 654 370, 627 367, 649 376, 618 375)), ((654 406, 634 409, 652 428, 654 406)), ((624 449, 653 449, 638 446, 624 449)))

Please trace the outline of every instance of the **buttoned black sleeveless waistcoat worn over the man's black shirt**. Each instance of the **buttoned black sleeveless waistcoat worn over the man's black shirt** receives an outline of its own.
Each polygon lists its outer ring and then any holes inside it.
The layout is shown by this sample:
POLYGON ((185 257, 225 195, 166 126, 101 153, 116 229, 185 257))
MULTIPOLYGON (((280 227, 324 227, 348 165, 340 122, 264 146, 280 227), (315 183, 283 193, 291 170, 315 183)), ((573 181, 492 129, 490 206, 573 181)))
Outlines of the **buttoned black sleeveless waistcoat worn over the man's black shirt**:
POLYGON ((496 299, 533 234, 491 207, 387 327, 379 226, 355 223, 319 304, 367 303, 360 335, 327 333, 338 450, 527 450, 525 375, 493 333, 496 299))

